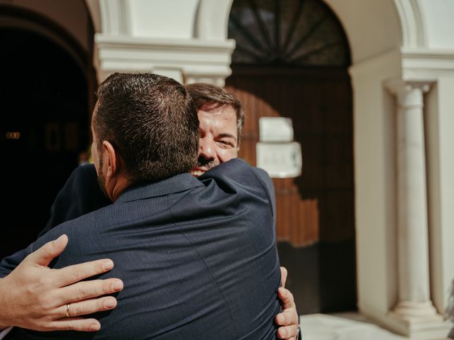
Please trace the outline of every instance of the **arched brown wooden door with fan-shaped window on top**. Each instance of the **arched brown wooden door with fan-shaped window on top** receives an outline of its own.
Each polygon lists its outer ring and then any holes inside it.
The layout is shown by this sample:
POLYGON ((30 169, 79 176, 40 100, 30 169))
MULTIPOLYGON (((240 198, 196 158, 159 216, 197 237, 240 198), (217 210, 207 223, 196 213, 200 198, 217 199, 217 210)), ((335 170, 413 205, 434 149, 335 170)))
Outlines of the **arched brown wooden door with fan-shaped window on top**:
POLYGON ((301 144, 301 176, 273 179, 288 287, 303 314, 353 310, 353 113, 343 29, 318 0, 236 0, 229 37, 237 47, 226 89, 246 112, 239 156, 255 164, 264 116, 292 118, 301 144))

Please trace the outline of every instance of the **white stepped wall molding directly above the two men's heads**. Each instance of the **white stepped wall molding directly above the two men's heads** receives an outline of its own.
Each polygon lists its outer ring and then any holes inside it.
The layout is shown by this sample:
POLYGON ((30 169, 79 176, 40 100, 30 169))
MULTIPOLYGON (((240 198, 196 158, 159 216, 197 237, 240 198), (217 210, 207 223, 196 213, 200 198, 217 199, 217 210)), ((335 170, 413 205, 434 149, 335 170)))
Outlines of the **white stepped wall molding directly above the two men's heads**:
MULTIPOLYGON (((233 40, 134 38, 96 34, 99 80, 113 72, 180 69, 185 83, 206 81, 223 86, 231 74, 233 40)), ((178 80, 178 79, 177 79, 178 80)))

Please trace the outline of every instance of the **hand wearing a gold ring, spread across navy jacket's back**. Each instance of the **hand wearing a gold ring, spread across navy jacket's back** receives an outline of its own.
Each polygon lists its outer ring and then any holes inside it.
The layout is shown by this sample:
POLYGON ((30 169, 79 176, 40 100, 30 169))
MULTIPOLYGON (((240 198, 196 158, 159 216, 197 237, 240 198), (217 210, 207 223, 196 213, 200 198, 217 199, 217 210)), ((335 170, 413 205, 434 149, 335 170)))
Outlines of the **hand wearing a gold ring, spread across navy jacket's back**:
POLYGON ((115 297, 100 296, 119 292, 123 282, 118 278, 79 282, 110 271, 114 267, 110 259, 50 269, 48 264, 62 253, 67 242, 67 236, 62 235, 46 243, 0 280, 0 329, 17 326, 37 331, 97 331, 101 328, 98 320, 79 316, 116 307, 115 297))

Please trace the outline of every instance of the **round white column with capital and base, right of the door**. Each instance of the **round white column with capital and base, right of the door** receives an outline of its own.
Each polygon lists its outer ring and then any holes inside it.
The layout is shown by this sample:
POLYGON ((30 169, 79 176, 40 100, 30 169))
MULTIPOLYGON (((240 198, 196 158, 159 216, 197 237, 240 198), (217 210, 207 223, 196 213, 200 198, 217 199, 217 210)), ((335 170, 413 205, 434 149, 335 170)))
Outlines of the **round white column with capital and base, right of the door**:
POLYGON ((428 84, 394 81, 397 96, 397 238, 399 301, 407 322, 441 320, 430 297, 423 93, 428 84))

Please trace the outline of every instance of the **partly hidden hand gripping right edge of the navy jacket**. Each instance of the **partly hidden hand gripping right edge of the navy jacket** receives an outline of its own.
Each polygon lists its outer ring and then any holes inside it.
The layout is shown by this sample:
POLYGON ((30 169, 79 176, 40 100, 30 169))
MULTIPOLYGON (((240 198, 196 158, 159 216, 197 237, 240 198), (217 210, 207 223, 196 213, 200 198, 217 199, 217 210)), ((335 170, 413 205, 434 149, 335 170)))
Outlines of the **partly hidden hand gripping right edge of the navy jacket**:
POLYGON ((276 324, 281 326, 277 329, 277 337, 279 339, 295 340, 298 336, 299 317, 292 293, 284 288, 286 281, 287 269, 281 267, 282 287, 277 290, 277 296, 282 301, 282 312, 275 317, 276 324))

